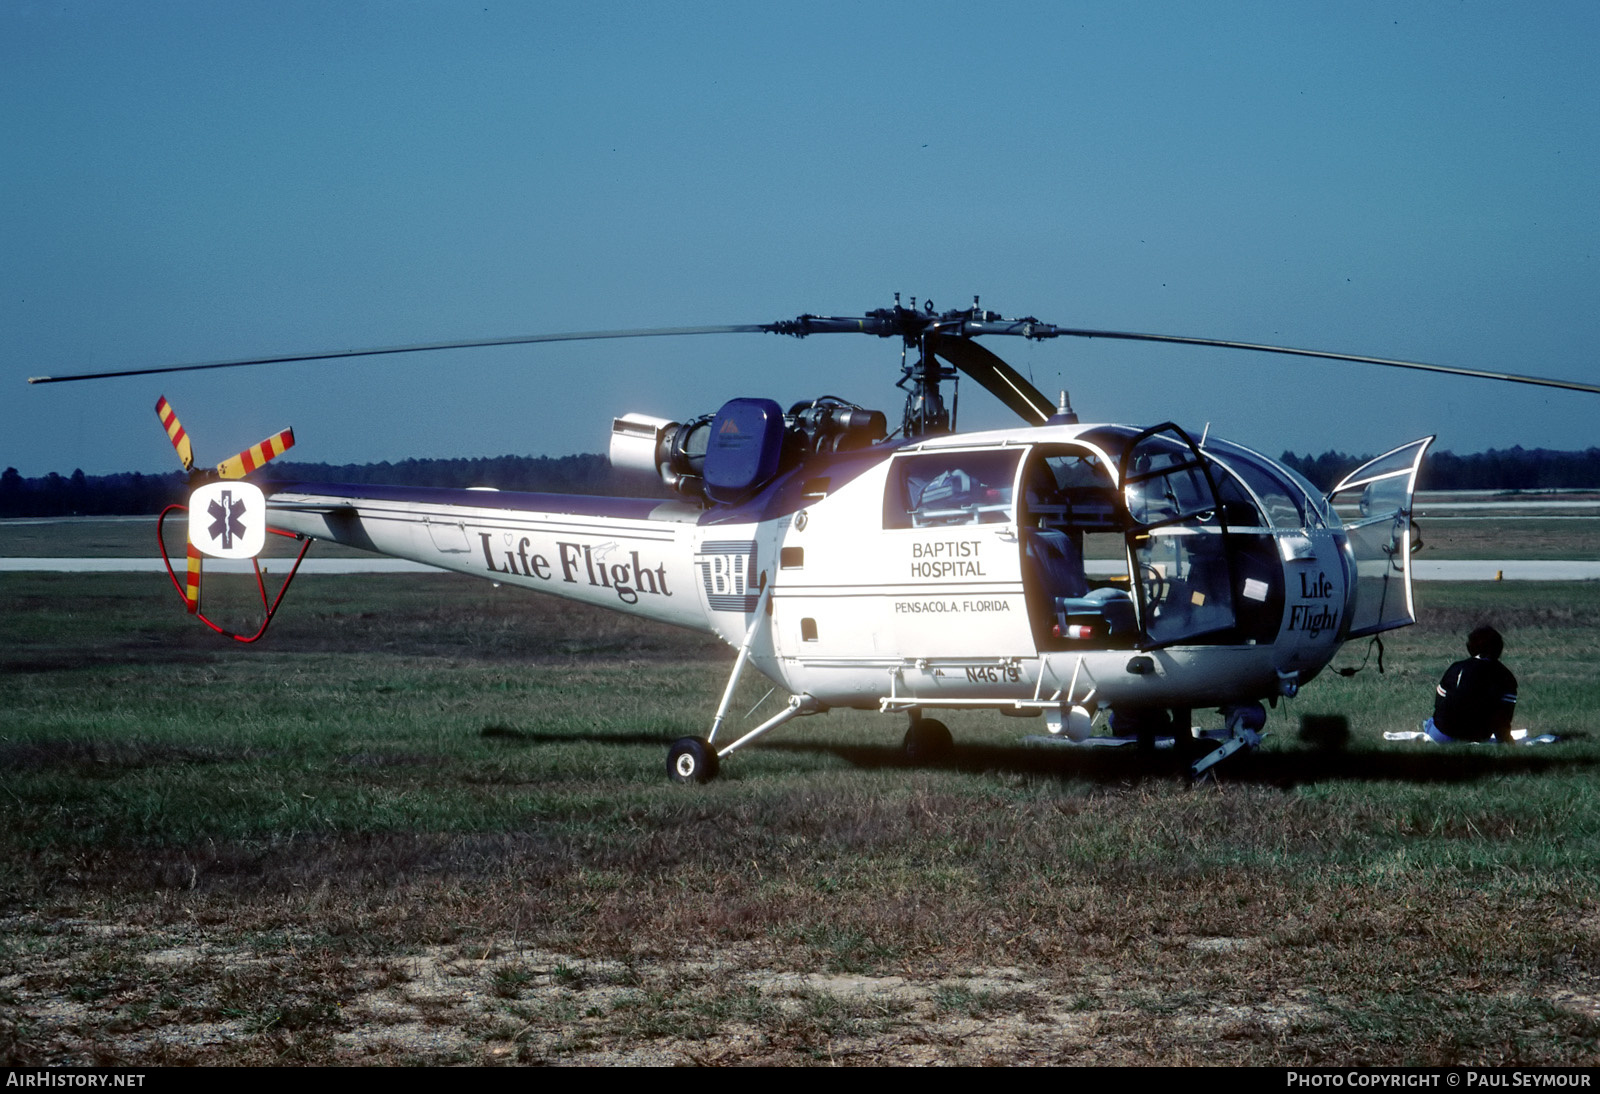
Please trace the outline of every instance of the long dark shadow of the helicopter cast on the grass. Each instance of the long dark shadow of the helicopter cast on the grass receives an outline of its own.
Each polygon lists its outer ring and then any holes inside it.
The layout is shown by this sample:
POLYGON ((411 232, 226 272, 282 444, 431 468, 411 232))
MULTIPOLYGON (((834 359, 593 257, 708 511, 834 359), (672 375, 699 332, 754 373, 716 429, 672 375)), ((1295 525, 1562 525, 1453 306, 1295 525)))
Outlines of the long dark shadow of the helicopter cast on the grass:
MULTIPOLYGON (((666 745, 667 737, 651 733, 632 734, 560 734, 491 726, 485 737, 528 745, 587 744, 666 745)), ((1566 745, 1573 747, 1573 745, 1566 745)), ((942 760, 910 760, 894 744, 837 744, 827 741, 778 739, 752 749, 784 755, 829 755, 864 771, 962 771, 966 774, 1014 774, 1046 779, 1086 779, 1125 784, 1149 777, 1187 777, 1187 761, 1173 750, 1141 753, 1126 749, 1077 749, 1072 745, 987 745, 958 744, 942 760)), ((1224 782, 1259 785, 1307 785, 1317 782, 1472 782, 1496 776, 1570 774, 1600 766, 1592 755, 1562 755, 1562 744, 1541 745, 1411 745, 1400 749, 1242 752, 1219 763, 1213 771, 1224 782)), ((736 766, 738 757, 723 760, 723 771, 736 766)))

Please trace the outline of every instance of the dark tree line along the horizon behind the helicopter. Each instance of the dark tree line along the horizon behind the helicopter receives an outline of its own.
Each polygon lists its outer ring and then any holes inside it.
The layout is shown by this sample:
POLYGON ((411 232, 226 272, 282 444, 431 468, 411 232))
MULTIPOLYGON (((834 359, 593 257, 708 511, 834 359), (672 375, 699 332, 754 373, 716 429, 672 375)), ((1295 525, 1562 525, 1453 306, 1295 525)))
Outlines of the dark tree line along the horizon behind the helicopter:
MULTIPOLYGON (((1323 453, 1280 461, 1326 491, 1346 472, 1370 456, 1323 453)), ((379 483, 397 486, 494 486, 498 489, 667 497, 666 489, 637 475, 619 475, 605 456, 494 456, 483 459, 403 459, 397 464, 301 464, 274 462, 270 477, 288 481, 379 483)), ((1600 448, 1560 453, 1546 448, 1506 448, 1456 456, 1429 453, 1419 477, 1421 489, 1595 489, 1600 488, 1600 448)), ((24 478, 14 467, 0 475, 3 517, 102 517, 158 513, 181 502, 182 472, 166 475, 70 475, 50 472, 24 478)))

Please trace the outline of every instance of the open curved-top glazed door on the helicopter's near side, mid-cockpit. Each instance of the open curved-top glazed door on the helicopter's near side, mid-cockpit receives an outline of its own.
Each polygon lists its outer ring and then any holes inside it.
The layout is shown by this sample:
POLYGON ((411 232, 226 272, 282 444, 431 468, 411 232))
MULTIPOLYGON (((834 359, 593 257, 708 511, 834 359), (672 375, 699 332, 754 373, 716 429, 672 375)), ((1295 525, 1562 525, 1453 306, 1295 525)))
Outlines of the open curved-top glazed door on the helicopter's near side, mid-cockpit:
POLYGON ((1189 433, 1166 422, 1122 456, 1128 557, 1146 649, 1234 629, 1234 560, 1216 483, 1189 433))

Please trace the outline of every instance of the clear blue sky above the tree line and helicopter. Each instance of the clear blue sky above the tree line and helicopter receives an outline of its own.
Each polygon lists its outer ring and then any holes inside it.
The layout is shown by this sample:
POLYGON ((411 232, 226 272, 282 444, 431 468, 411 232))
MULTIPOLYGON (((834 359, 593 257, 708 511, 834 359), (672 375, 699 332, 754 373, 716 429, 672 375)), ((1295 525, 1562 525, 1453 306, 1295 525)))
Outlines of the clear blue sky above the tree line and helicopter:
MULTIPOLYGON (((29 376, 859 315, 1600 382, 1600 5, 0 3, 0 465, 605 451, 611 417, 840 395, 899 347, 765 334, 29 376)), ((1085 421, 1278 454, 1600 445, 1600 395, 990 339, 1085 421)), ((1011 422, 976 387, 963 429, 1011 422)))

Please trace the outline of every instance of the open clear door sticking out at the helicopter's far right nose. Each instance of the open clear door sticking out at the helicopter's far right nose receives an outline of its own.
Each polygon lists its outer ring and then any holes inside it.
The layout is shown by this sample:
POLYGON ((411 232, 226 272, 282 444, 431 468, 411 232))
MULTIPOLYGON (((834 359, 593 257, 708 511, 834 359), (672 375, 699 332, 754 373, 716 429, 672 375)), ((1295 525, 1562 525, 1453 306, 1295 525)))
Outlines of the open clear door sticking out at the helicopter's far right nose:
POLYGON ((1346 475, 1328 494, 1330 504, 1357 504, 1357 513, 1344 521, 1350 566, 1346 638, 1416 622, 1416 603, 1411 600, 1411 496, 1422 453, 1432 443, 1432 437, 1424 437, 1384 453, 1346 475))

